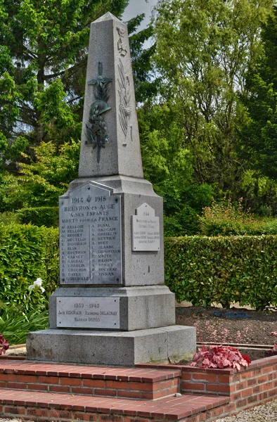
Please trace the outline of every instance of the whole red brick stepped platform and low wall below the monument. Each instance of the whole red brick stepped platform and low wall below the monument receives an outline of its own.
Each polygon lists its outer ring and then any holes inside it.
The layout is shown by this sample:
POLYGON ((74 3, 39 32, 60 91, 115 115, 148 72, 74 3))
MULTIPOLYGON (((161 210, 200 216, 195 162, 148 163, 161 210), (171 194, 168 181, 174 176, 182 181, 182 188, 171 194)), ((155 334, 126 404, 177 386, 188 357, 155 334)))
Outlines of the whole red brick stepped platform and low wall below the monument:
POLYGON ((139 364, 128 369, 5 360, 0 362, 0 414, 36 422, 212 422, 275 398, 276 369, 277 356, 255 361, 240 372, 178 365, 139 364), (87 382, 91 385, 85 386, 87 382), (176 397, 171 388, 179 388, 182 395, 176 397), (122 397, 130 393, 131 398, 122 397))

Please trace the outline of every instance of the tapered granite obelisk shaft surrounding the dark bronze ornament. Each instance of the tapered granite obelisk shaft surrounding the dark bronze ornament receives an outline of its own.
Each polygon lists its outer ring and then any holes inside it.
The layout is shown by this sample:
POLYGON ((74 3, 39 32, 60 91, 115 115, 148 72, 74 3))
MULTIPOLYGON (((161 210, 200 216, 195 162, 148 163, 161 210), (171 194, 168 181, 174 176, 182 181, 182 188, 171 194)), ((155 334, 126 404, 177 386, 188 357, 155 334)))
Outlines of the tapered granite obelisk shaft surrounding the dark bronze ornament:
POLYGON ((91 23, 79 177, 114 174, 143 177, 127 25, 106 13, 91 23), (86 125, 96 100, 96 85, 89 82, 99 75, 98 63, 102 63, 103 77, 112 79, 106 84, 110 110, 101 115, 109 140, 101 148, 99 162, 97 148, 86 143, 86 125))

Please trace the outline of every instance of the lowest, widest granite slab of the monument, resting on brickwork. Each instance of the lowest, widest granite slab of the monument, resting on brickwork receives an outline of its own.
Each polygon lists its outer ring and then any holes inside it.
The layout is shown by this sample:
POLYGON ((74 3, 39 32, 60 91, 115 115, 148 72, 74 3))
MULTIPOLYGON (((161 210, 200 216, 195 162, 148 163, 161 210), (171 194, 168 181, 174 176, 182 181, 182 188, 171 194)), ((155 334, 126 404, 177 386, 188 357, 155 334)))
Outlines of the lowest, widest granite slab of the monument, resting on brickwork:
POLYGON ((110 366, 178 362, 195 353, 194 327, 137 331, 44 330, 27 335, 27 359, 110 366))

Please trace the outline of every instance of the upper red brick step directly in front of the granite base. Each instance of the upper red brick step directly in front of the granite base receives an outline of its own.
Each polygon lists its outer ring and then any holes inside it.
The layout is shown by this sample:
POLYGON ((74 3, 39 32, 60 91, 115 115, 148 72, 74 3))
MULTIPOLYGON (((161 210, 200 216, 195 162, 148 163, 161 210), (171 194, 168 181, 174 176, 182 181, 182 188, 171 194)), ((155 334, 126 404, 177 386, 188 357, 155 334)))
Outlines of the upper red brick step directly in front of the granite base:
POLYGON ((179 392, 179 369, 111 368, 5 360, 0 388, 74 395, 159 399, 179 392))

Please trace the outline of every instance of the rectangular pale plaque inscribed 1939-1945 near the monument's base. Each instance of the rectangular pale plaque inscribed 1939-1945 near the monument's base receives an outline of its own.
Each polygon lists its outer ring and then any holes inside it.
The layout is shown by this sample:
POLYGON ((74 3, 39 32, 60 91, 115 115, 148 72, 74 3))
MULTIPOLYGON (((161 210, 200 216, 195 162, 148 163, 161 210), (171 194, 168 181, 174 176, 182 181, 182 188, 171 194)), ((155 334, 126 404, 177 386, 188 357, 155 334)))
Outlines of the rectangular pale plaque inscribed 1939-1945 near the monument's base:
POLYGON ((58 298, 58 328, 120 328, 120 298, 58 298))

